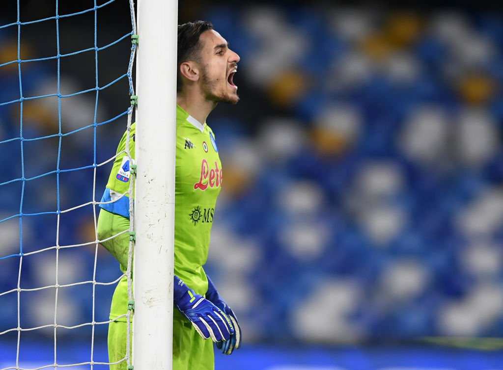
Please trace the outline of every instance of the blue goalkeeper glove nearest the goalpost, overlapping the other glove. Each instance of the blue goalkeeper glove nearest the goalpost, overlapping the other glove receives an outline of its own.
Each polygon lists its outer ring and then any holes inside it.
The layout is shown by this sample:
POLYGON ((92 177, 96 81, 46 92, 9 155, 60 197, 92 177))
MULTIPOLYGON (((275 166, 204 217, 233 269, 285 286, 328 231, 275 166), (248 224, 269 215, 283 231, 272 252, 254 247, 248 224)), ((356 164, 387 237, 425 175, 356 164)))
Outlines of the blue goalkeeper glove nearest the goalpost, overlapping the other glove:
POLYGON ((178 310, 189 319, 203 339, 214 342, 229 340, 234 328, 227 315, 217 306, 196 294, 175 275, 173 301, 178 310))

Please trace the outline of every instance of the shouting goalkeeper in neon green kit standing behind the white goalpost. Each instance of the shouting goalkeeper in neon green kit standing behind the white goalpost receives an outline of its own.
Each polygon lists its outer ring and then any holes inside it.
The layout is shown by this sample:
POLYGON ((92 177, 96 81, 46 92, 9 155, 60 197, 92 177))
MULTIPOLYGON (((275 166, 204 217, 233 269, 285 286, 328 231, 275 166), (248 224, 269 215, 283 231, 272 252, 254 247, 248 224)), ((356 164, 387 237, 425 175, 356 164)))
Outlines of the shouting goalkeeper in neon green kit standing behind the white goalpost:
MULTIPOLYGON (((236 316, 220 297, 203 265, 208 256, 215 202, 222 184, 222 166, 213 132, 206 118, 218 102, 236 104, 237 86, 232 78, 239 56, 210 22, 178 26, 177 138, 175 178, 175 284, 173 315, 173 369, 213 369, 213 342, 230 354, 239 348, 236 316), (210 339, 211 338, 211 339, 210 339), (210 339, 210 340, 207 340, 210 339)), ((141 122, 139 123, 141 124, 141 122)), ((171 125, 171 120, 164 123, 171 125)), ((100 204, 98 238, 104 240, 129 229, 131 179, 125 150, 127 133, 117 148, 112 171, 100 204), (125 194, 125 196, 122 196, 125 194)), ((134 159, 135 124, 129 134, 134 159)), ((128 264, 127 233, 102 245, 120 262, 128 264)), ((167 289, 167 288, 166 288, 167 289)), ((111 363, 126 356, 127 279, 115 289, 110 309, 108 351, 111 363)), ((126 361, 110 365, 125 369, 126 361)))

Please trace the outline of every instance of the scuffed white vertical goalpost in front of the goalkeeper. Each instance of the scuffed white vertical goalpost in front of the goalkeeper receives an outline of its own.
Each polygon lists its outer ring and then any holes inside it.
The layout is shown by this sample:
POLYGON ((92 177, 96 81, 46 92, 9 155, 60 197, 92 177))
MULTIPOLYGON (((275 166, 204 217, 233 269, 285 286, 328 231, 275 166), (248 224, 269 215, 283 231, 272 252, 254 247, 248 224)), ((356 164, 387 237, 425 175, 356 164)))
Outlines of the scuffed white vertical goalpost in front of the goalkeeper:
POLYGON ((139 0, 133 365, 173 367, 178 2, 139 0))

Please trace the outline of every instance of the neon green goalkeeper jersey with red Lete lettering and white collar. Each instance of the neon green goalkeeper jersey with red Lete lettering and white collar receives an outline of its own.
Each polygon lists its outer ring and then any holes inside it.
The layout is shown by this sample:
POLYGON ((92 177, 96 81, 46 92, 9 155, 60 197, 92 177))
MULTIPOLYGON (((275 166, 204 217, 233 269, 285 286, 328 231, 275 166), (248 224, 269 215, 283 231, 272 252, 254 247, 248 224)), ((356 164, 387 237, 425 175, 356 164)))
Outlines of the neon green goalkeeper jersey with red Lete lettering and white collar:
MULTIPOLYGON (((133 160, 135 128, 132 124, 129 139, 133 160)), ((117 153, 125 150, 126 135, 127 132, 119 143, 117 153)), ((208 257, 215 203, 222 184, 222 166, 209 126, 198 122, 178 105, 176 140, 174 272, 188 287, 204 295, 208 290, 208 280, 203 265, 208 257)), ((118 154, 102 198, 102 202, 115 202, 100 205, 108 212, 127 218, 129 198, 127 194, 122 194, 127 193, 132 178, 129 166, 126 153, 118 154)), ((152 196, 155 197, 155 194, 152 196)), ((125 271, 125 266, 121 269, 125 271)), ((127 312, 127 301, 127 280, 124 276, 112 299, 111 319, 127 312)), ((177 316, 183 317, 175 310, 177 316)))

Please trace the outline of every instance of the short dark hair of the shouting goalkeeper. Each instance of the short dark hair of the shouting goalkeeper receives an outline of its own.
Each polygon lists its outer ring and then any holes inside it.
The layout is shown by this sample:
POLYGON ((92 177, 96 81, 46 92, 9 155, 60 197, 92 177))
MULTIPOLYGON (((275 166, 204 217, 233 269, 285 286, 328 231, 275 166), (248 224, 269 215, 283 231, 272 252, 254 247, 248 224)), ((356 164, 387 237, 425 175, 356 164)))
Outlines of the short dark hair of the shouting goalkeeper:
POLYGON ((208 21, 187 22, 178 26, 177 92, 182 89, 180 65, 188 60, 200 60, 201 43, 199 42, 199 36, 204 31, 212 29, 213 25, 208 21))

